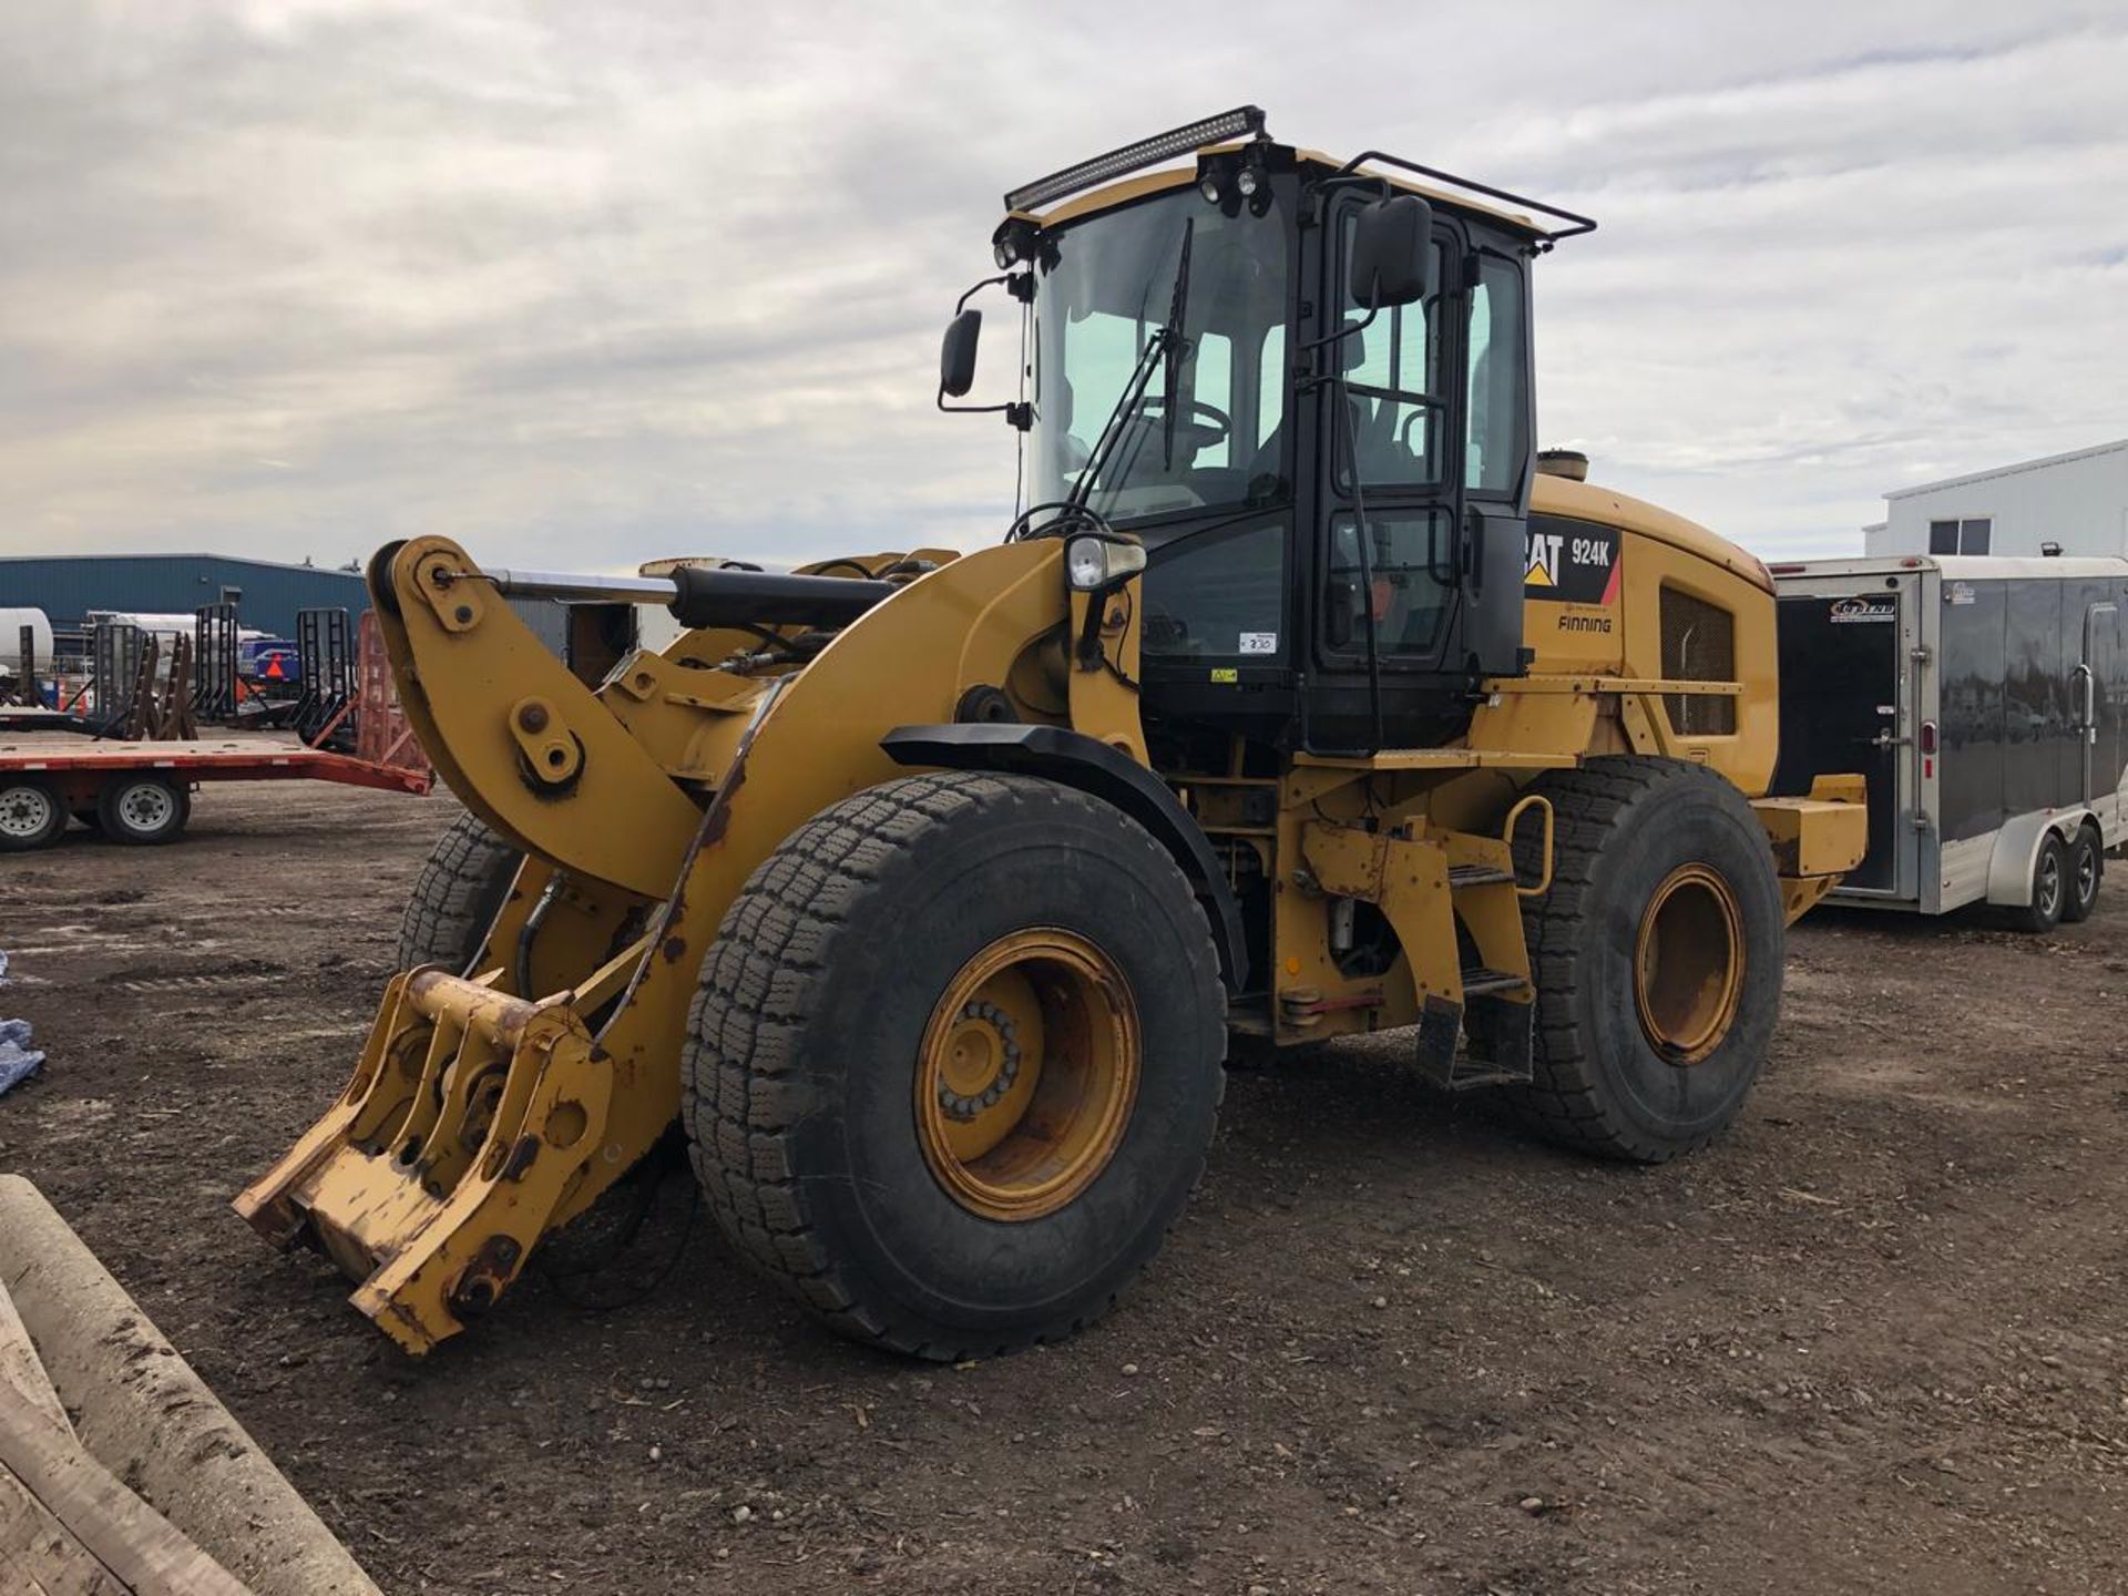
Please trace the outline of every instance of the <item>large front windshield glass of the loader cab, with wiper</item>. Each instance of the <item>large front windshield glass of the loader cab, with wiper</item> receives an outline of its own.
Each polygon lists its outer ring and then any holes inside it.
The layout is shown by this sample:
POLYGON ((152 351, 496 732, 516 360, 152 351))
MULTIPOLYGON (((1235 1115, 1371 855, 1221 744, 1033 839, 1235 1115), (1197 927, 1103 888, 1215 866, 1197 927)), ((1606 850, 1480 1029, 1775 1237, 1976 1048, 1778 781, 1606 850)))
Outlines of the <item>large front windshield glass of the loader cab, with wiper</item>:
POLYGON ((1238 196, 1209 204, 1181 187, 1043 236, 1030 502, 1073 492, 1177 294, 1181 355, 1158 360, 1117 421, 1087 504, 1128 521, 1285 494, 1290 230, 1266 200, 1256 215, 1238 196))

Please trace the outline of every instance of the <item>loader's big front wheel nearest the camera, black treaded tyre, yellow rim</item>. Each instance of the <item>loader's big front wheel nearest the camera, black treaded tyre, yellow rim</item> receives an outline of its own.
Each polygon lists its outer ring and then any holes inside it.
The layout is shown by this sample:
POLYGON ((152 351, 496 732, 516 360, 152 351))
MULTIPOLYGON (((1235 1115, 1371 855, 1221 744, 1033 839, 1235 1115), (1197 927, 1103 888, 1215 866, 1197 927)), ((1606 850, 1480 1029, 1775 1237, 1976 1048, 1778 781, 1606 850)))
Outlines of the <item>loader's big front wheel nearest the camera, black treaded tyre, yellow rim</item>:
POLYGON ((711 1211, 832 1328, 1051 1341, 1158 1251, 1224 1075, 1211 928, 1113 807, 1028 777, 821 811, 724 917, 687 1043, 711 1211))

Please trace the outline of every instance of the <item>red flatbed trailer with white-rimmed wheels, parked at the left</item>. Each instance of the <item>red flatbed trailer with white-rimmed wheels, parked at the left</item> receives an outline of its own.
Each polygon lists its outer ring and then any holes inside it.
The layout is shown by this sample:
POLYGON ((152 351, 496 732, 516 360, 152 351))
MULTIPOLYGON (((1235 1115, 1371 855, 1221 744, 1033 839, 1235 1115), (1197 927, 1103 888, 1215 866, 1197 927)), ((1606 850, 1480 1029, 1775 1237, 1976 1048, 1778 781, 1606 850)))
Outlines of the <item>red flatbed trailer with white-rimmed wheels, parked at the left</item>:
POLYGON ((98 826, 119 843, 172 843, 206 781, 336 781, 426 794, 430 772, 300 743, 0 743, 0 853, 51 847, 66 821, 98 826))

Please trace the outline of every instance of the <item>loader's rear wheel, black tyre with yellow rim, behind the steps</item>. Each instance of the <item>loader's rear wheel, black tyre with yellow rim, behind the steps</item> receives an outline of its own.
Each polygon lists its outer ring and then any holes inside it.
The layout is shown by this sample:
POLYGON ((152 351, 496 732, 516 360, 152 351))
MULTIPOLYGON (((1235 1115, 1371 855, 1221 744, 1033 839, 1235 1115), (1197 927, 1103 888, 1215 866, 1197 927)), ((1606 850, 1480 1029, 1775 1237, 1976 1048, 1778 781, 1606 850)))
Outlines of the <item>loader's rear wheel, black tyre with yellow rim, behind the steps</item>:
POLYGON ((1556 1143, 1662 1164, 1717 1136, 1766 1062, 1785 941, 1766 832, 1675 760, 1590 760, 1532 789, 1553 875, 1524 904, 1532 1081, 1504 1096, 1556 1143))

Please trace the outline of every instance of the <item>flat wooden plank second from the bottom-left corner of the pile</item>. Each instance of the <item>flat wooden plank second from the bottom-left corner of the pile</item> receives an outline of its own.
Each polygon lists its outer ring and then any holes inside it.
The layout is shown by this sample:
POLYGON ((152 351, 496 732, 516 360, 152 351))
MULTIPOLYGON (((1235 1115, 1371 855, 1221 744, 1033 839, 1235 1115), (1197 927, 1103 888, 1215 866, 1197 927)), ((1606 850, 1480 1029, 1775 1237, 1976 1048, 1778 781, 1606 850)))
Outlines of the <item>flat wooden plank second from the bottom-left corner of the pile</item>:
POLYGON ((11 1385, 0 1387, 0 1464, 136 1596, 251 1596, 11 1385))

